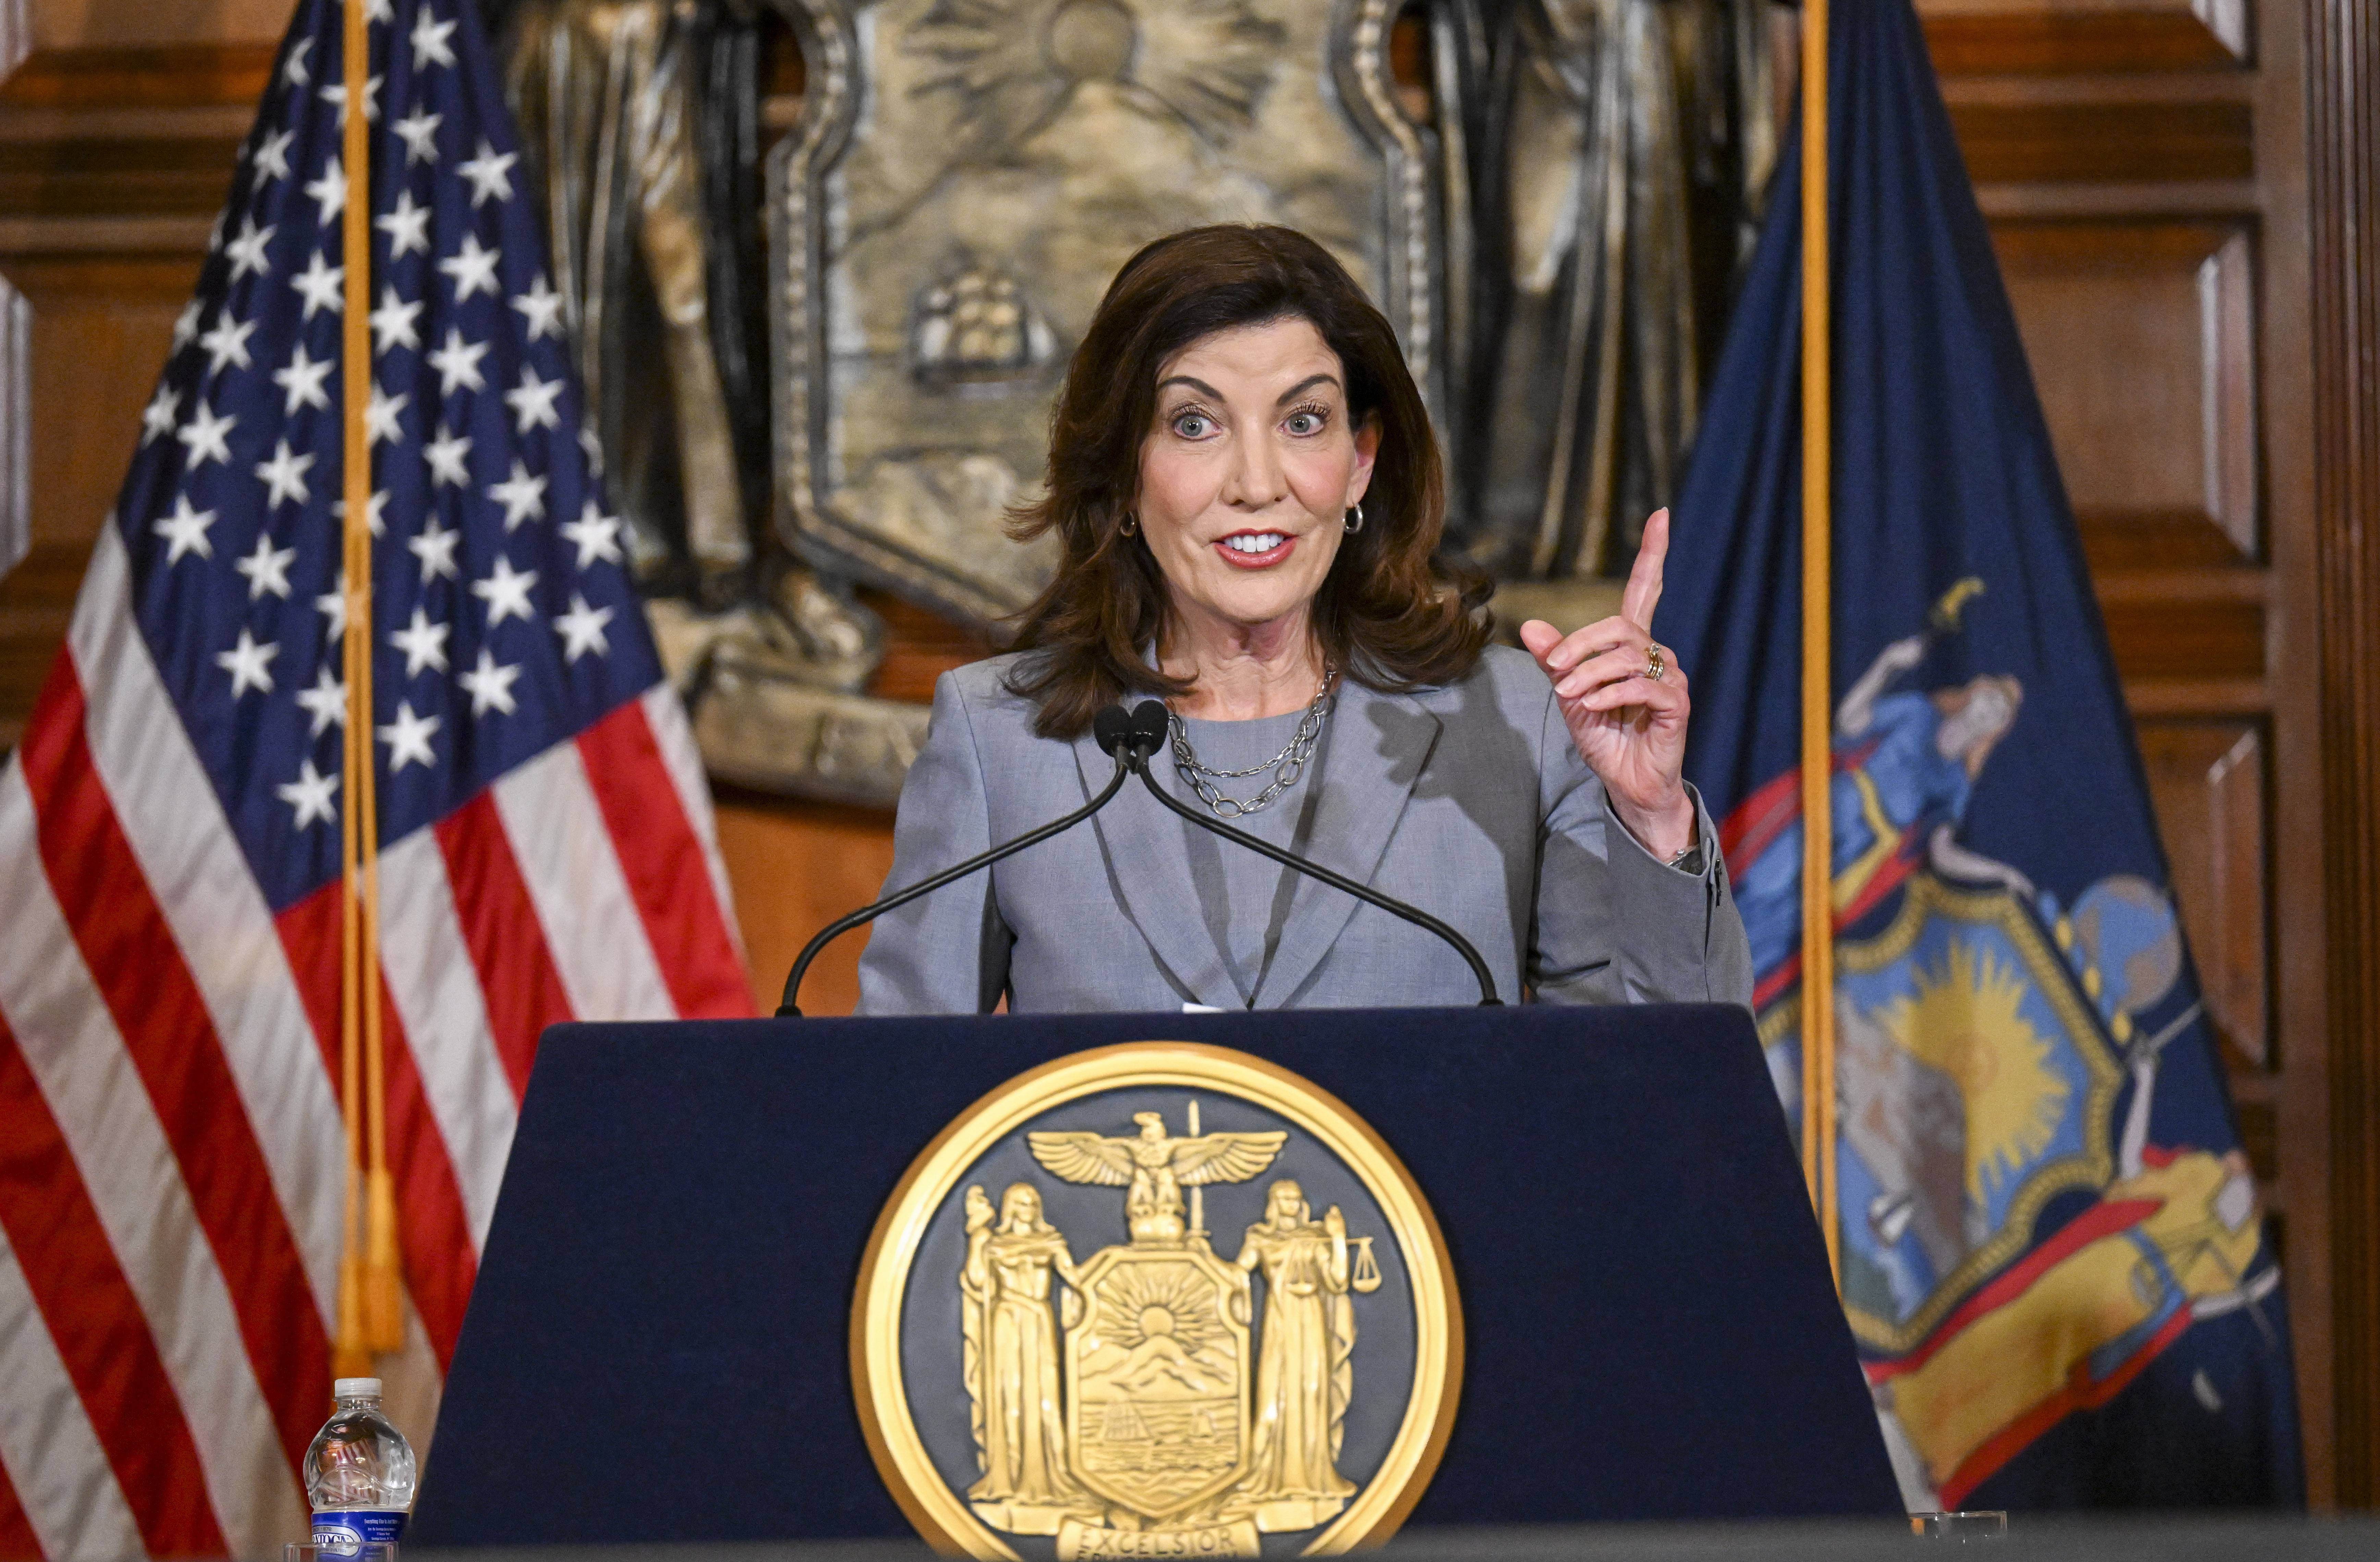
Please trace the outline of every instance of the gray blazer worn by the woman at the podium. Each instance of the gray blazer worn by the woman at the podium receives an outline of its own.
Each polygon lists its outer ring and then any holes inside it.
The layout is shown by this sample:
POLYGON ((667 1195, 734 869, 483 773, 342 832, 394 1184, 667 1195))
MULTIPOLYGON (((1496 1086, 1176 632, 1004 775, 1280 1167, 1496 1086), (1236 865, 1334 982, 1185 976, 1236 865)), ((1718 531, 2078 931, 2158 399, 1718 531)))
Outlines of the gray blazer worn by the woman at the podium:
MULTIPOLYGON (((1014 662, 935 683, 888 893, 1081 807, 1114 774, 1088 733, 1033 736, 1033 705, 1002 686, 1014 662)), ((1526 652, 1495 645, 1461 683, 1409 695, 1342 683, 1309 786, 1323 793, 1309 855, 1457 926, 1504 1002, 1523 981, 1540 1002, 1752 1002, 1702 800, 1702 871, 1656 862, 1611 817, 1526 652)), ((859 1012, 988 1012, 1002 993, 1012 1012, 1238 1007, 1188 829, 1133 781, 1090 824, 885 914, 859 1012)), ((1299 879, 1252 1007, 1476 1000, 1471 967, 1433 933, 1299 879)))

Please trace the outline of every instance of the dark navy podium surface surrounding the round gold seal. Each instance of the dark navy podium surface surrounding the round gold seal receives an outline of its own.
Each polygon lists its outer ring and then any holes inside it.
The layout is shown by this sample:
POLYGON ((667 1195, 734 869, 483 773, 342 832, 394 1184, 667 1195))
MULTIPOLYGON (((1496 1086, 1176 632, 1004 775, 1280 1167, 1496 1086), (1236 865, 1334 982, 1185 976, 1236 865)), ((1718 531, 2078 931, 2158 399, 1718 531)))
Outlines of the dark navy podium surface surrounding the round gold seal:
POLYGON ((1902 1512, 1742 1010, 754 1019, 545 1033, 409 1538, 909 1536, 869 1231, 981 1095, 1123 1041, 1302 1074, 1435 1207, 1466 1369, 1409 1524, 1902 1512))

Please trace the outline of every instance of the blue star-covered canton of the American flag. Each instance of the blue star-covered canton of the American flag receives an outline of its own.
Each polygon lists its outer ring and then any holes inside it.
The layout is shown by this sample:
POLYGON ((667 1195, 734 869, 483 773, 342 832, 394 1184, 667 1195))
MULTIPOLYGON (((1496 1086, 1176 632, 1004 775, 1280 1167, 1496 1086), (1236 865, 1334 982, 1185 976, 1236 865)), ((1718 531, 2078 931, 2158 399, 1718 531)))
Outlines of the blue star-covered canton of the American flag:
MULTIPOLYGON (((395 7, 367 0, 386 21, 395 7)), ((383 838, 659 674, 571 381, 509 126, 455 69, 459 0, 374 29, 374 724, 383 838), (559 512, 576 517, 547 529, 559 512)), ((124 514, 155 641, 276 902, 336 874, 355 598, 340 569, 343 64, 300 38, 140 417, 124 514), (171 438, 167 438, 171 436, 171 438), (293 671, 295 669, 295 671, 293 671), (245 800, 264 798, 267 807, 245 800)), ((271 98, 271 95, 269 95, 271 98)))

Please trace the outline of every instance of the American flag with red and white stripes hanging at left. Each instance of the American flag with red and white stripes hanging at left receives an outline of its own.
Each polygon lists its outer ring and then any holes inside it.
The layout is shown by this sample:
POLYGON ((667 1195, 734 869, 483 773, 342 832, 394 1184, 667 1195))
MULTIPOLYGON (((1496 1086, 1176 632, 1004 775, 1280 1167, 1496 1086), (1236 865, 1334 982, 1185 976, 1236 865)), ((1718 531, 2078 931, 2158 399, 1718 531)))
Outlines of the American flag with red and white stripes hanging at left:
MULTIPOLYGON (((426 1422, 562 1019, 747 1014, 469 0, 364 0, 388 1145, 426 1422)), ((0 1555, 305 1536, 345 1138, 340 10, 305 0, 0 771, 0 1555)))

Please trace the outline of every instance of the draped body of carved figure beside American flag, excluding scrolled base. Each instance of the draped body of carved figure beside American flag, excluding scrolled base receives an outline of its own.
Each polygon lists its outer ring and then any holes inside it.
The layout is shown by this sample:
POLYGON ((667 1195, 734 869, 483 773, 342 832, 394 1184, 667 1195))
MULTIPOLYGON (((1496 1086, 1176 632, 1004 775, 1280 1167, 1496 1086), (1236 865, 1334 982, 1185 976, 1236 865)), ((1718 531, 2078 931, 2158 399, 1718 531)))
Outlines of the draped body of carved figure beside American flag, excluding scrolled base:
POLYGON ((745 302, 759 262, 754 17, 740 0, 495 5, 524 174, 545 195, 555 290, 638 576, 733 595, 724 581, 752 562, 766 495, 745 302))

